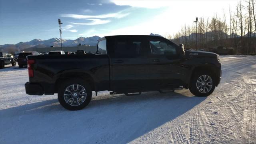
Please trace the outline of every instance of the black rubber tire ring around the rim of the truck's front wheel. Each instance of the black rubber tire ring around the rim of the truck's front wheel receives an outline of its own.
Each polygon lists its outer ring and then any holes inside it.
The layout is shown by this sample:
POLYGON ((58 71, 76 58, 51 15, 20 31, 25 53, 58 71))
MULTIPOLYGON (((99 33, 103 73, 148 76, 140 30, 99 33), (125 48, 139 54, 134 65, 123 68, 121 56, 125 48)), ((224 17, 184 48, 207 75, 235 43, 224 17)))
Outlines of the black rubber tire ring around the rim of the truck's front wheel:
MULTIPOLYGON (((201 77, 202 78, 202 77, 201 77)), ((195 96, 209 96, 210 94, 212 94, 212 92, 215 89, 215 77, 211 72, 208 71, 200 71, 200 72, 195 72, 194 75, 192 76, 192 79, 190 81, 190 86, 189 86, 189 90, 192 94, 194 94, 195 96), (211 89, 209 87, 207 87, 204 91, 201 91, 202 89, 204 89, 203 87, 199 87, 200 90, 198 90, 197 88, 197 81, 199 80, 199 78, 201 76, 210 76, 211 80, 212 80, 212 87, 211 89), (206 92, 208 89, 210 89, 208 92, 206 92), (203 93, 205 92, 205 93, 203 93)), ((208 81, 207 81, 208 82, 208 81)), ((204 83, 204 82, 203 82, 204 83)), ((210 83, 209 83, 210 84, 210 83)), ((200 84, 199 84, 200 85, 200 84)), ((202 85, 201 85, 202 86, 202 85)), ((207 85, 208 86, 208 85, 207 85)), ((204 86, 206 87, 206 85, 204 86)))

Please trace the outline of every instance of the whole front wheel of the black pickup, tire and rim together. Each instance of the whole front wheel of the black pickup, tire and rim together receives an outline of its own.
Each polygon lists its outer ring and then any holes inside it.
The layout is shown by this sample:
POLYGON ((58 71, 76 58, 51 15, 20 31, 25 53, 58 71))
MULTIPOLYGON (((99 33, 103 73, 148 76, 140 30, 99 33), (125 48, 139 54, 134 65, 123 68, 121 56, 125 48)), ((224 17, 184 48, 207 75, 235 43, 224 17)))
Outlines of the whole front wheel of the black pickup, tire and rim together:
POLYGON ((193 75, 189 90, 195 96, 209 96, 215 89, 215 78, 210 72, 198 72, 193 75))

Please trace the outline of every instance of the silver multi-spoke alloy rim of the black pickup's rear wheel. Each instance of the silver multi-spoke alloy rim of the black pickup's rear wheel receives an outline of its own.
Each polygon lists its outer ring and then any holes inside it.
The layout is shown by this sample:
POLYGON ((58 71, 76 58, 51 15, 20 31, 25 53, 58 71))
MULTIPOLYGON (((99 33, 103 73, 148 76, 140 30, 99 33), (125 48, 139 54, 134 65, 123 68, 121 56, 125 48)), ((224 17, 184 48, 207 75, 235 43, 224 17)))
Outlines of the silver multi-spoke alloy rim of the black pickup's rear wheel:
POLYGON ((64 92, 64 100, 70 106, 79 106, 86 99, 86 90, 79 84, 68 86, 64 92))

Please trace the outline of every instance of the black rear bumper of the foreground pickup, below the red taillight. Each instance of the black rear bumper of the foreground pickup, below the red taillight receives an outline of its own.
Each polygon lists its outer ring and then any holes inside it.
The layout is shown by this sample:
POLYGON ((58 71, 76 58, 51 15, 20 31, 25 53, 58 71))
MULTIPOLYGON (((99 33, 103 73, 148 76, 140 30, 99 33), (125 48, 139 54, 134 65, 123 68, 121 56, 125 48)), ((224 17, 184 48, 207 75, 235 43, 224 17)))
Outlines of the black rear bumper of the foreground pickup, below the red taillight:
POLYGON ((26 94, 29 95, 43 95, 44 90, 40 84, 31 84, 29 82, 26 82, 25 84, 26 94))

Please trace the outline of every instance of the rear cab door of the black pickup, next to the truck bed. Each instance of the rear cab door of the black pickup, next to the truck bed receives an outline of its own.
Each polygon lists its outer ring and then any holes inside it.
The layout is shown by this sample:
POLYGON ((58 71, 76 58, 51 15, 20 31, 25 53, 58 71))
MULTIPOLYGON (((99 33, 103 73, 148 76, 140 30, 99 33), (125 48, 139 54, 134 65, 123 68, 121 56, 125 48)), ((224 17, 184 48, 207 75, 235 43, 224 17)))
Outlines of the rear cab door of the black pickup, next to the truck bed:
POLYGON ((150 78, 150 49, 142 38, 107 40, 112 90, 142 90, 150 78), (147 49, 148 48, 148 49, 147 49))

